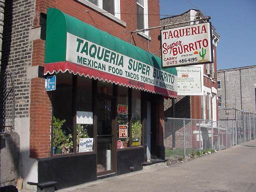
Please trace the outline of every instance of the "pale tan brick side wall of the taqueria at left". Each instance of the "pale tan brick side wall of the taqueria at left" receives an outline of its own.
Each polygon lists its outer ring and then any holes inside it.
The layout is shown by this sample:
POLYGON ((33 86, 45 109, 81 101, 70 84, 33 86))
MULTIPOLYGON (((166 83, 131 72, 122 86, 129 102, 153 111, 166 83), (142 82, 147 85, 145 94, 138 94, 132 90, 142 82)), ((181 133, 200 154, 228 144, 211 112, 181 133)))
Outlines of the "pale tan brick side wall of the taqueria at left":
POLYGON ((29 80, 27 67, 31 65, 32 43, 29 29, 32 27, 34 0, 6 0, 4 7, 1 76, 15 73, 15 116, 28 117, 29 80))

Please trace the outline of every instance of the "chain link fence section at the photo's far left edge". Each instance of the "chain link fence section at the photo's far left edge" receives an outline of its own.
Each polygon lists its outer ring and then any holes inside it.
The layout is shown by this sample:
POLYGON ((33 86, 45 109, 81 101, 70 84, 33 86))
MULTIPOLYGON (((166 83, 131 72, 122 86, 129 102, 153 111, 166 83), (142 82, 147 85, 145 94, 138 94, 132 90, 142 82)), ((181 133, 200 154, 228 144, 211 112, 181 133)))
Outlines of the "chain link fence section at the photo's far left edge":
POLYGON ((12 132, 15 119, 14 73, 4 73, 0 80, 0 132, 12 132))

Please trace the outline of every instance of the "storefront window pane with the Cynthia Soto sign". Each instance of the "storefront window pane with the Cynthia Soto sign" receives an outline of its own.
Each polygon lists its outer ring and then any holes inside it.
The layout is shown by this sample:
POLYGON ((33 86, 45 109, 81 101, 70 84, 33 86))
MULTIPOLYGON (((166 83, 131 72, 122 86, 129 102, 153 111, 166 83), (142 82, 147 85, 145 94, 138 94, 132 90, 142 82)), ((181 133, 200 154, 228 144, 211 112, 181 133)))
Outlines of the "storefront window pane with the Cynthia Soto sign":
POLYGON ((92 80, 77 76, 76 152, 93 151, 92 80))

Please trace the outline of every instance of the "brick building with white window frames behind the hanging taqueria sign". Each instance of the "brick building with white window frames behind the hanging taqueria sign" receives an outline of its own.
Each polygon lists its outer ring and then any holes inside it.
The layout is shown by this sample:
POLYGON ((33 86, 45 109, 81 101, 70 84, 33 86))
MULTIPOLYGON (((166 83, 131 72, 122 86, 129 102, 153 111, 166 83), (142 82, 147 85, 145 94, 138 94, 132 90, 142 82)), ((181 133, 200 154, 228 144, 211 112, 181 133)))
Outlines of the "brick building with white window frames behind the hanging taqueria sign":
MULTIPOLYGON (((204 16, 200 12, 200 10, 190 9, 180 15, 174 15, 170 17, 165 17, 160 19, 160 24, 172 24, 184 21, 191 21, 190 24, 196 24, 197 22, 193 22, 194 19, 203 18, 204 16)), ((171 27, 178 27, 188 25, 189 23, 172 25, 171 27)), ((166 27, 165 27, 166 28, 166 27)), ((165 117, 176 117, 176 118, 189 118, 189 119, 205 119, 205 120, 218 120, 218 110, 217 110, 217 81, 216 81, 216 46, 219 41, 219 35, 216 33, 215 28, 212 26, 212 49, 213 49, 213 63, 206 63, 203 65, 203 95, 178 95, 177 98, 167 98, 164 99, 164 116, 165 117)), ((195 122, 195 121, 193 121, 195 122)), ((205 121, 206 126, 207 121, 205 121)), ((213 126, 216 126, 216 123, 213 123, 213 126)), ((166 125, 165 125, 166 126, 166 125)), ((173 127, 175 125, 172 125, 173 127)), ((172 127, 171 126, 171 127, 172 127)), ((203 125, 201 125, 201 131, 203 132, 203 125)), ((182 127, 182 126, 181 126, 182 127)), ((198 127, 196 124, 190 124, 187 128, 191 128, 197 130, 198 127)), ((166 127, 170 128, 170 127, 166 127)), ((207 129, 207 128, 206 128, 207 129)), ((187 130, 191 132, 192 130, 187 130)), ((175 135, 177 141, 181 141, 181 143, 173 142, 172 135, 165 138, 165 146, 170 148, 172 147, 182 147, 183 146, 183 127, 173 129, 173 135, 175 135), (169 144, 168 144, 169 143, 169 144)), ((206 130, 207 134, 208 131, 206 130)), ((198 133, 198 130, 197 130, 198 133)), ((197 145, 199 146, 198 137, 196 138, 196 131, 192 134, 191 139, 197 139, 197 145)), ((189 138, 189 136, 188 136, 189 138)), ((189 142, 188 139, 186 146, 191 146, 192 142, 189 142)), ((195 146, 193 146, 195 147, 195 146)), ((205 146, 207 147, 206 144, 205 146)))

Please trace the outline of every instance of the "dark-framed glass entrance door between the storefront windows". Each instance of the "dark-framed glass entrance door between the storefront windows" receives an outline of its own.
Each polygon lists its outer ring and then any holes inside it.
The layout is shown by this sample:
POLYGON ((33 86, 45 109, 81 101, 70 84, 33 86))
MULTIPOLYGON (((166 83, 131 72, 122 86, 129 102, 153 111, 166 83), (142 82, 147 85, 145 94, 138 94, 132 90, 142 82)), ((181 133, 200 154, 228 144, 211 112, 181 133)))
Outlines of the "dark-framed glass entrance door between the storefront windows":
POLYGON ((111 96, 98 95, 96 101, 97 111, 97 174, 112 172, 112 113, 111 96))

